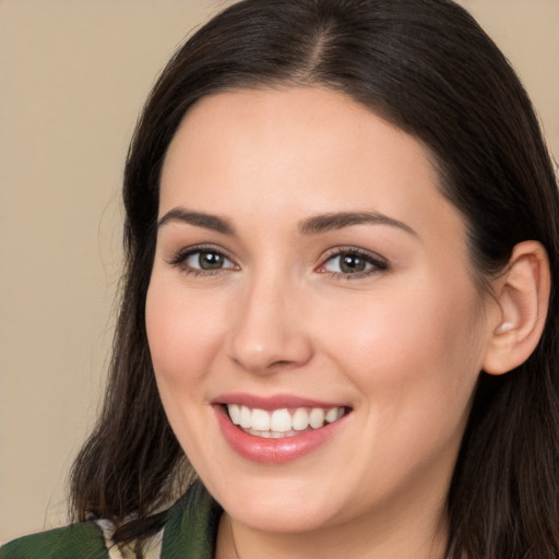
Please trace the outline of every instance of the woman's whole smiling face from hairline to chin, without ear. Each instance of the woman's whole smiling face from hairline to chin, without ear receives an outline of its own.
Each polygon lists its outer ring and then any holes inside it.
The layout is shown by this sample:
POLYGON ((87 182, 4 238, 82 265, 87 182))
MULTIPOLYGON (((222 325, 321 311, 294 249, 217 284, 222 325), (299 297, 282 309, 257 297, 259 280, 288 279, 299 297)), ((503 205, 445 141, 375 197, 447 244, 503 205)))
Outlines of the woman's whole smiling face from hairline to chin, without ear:
POLYGON ((186 116, 146 325, 170 425, 236 522, 440 512, 488 329, 437 181, 341 93, 223 93, 186 116))

